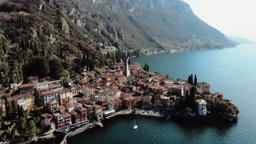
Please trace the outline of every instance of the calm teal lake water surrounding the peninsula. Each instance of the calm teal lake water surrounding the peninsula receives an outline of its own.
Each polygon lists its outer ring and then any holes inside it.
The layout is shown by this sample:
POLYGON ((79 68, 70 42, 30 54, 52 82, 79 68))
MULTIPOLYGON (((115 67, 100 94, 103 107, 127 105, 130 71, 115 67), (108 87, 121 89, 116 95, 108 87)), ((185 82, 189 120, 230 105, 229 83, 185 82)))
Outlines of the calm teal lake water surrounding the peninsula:
POLYGON ((240 109, 234 125, 180 123, 158 118, 116 117, 68 139, 68 143, 256 143, 256 44, 211 51, 143 56, 132 62, 175 79, 197 75, 240 109), (133 131, 136 118, 138 130, 133 131))

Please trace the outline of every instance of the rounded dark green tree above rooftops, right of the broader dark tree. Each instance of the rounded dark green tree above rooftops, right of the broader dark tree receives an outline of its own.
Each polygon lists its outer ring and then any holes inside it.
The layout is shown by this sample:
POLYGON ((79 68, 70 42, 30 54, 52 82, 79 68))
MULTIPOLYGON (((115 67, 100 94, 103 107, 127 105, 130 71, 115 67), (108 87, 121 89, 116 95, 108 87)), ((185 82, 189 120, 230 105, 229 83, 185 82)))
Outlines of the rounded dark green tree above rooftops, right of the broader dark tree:
POLYGON ((63 67, 59 59, 51 59, 49 61, 50 77, 52 79, 61 79, 63 75, 63 67))

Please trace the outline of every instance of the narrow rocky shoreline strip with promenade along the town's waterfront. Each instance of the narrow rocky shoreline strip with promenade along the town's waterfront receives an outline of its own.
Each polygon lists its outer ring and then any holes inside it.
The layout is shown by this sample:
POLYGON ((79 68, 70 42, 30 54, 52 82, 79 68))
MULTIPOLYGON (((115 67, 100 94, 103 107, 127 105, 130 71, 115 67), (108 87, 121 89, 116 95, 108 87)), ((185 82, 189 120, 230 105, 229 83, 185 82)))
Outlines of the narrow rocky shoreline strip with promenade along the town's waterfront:
MULTIPOLYGON (((37 139, 37 141, 35 140, 32 140, 30 142, 25 142, 25 143, 37 143, 38 141, 40 142, 44 142, 45 140, 50 140, 50 139, 54 139, 54 138, 57 138, 57 139, 61 139, 61 144, 64 144, 64 143, 67 143, 67 139, 69 139, 70 137, 73 137, 75 135, 78 135, 78 134, 81 134, 83 133, 84 131, 87 131, 91 128, 94 128, 94 127, 104 127, 104 125, 102 125, 102 122, 104 121, 107 121, 108 119, 112 119, 112 118, 115 118, 115 117, 120 117, 120 116, 139 116, 139 117, 149 117, 149 118, 166 118, 166 121, 174 121, 174 122, 185 122, 185 123, 201 123, 201 124, 207 124, 207 125, 213 125, 213 124, 218 124, 218 125, 222 125, 222 124, 234 124, 235 122, 226 122, 226 123, 223 123, 223 122, 213 122, 213 121, 210 121, 212 117, 205 117, 205 118, 202 118, 202 117, 193 117, 193 116, 189 116, 189 114, 184 114, 181 115, 181 113, 179 113, 178 115, 168 115, 168 114, 162 114, 160 113, 160 111, 154 111, 154 110, 141 110, 139 109, 138 112, 133 112, 131 109, 129 110, 124 110, 124 111, 119 111, 119 112, 116 112, 114 113, 113 115, 111 116, 108 116, 106 118, 104 118, 103 120, 101 121, 97 121, 97 122, 94 122, 94 123, 88 123, 87 126, 85 125, 80 125, 80 127, 77 127, 77 125, 74 125, 76 127, 75 130, 67 133, 65 131, 62 131, 62 130, 55 130, 55 131, 52 131, 51 133, 55 133, 55 135, 51 135, 49 137, 44 137, 44 139, 37 139), (62 135, 62 136, 61 136, 62 135)), ((215 117, 215 116, 214 116, 215 117)), ((237 118, 237 116, 236 116, 237 118)), ((114 119, 112 119, 114 120, 114 119)), ((237 119, 236 119, 237 120, 237 119)), ((237 121, 236 121, 237 122, 237 121)))

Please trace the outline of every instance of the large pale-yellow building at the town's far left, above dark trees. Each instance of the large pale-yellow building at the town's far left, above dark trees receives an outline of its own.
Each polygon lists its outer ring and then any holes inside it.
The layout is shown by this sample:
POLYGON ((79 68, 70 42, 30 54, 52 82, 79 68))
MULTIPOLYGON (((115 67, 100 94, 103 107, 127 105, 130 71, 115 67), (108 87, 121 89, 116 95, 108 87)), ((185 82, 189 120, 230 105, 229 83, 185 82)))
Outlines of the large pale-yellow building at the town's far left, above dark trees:
POLYGON ((17 108, 17 105, 22 106, 24 110, 34 109, 34 95, 32 94, 15 95, 14 97, 7 98, 7 100, 15 109, 17 108))

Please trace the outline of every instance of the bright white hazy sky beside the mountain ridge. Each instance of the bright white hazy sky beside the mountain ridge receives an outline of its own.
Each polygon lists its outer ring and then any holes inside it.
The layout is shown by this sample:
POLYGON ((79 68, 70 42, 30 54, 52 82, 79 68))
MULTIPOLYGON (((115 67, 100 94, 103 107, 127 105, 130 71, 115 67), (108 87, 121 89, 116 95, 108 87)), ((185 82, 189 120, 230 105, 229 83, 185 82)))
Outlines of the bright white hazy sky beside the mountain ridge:
POLYGON ((256 0, 182 0, 226 35, 256 41, 256 0))

